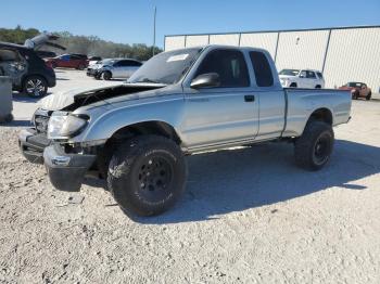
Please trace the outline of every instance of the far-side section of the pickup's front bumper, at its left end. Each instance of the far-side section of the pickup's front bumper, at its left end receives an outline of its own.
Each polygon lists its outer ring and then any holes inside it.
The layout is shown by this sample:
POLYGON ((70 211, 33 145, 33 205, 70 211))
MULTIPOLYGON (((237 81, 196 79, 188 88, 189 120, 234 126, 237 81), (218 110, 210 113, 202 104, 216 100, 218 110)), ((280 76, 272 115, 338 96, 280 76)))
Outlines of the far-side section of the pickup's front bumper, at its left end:
POLYGON ((24 157, 30 163, 43 164, 43 150, 51 141, 34 128, 23 129, 18 134, 18 145, 24 157))

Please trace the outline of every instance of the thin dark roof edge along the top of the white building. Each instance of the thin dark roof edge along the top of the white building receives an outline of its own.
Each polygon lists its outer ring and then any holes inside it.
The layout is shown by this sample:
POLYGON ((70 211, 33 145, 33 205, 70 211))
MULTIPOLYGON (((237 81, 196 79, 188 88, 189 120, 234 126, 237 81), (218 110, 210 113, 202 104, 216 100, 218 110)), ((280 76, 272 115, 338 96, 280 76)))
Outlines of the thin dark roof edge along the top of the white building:
POLYGON ((265 33, 290 33, 290 31, 314 31, 314 30, 334 30, 334 29, 353 29, 353 28, 380 28, 380 25, 363 26, 342 26, 342 27, 320 27, 320 28, 299 28, 299 29, 269 29, 269 30, 248 30, 248 31, 228 31, 228 33, 202 33, 202 34, 179 34, 165 35, 164 37, 185 37, 185 36, 217 36, 217 35, 243 35, 243 34, 265 34, 265 33))

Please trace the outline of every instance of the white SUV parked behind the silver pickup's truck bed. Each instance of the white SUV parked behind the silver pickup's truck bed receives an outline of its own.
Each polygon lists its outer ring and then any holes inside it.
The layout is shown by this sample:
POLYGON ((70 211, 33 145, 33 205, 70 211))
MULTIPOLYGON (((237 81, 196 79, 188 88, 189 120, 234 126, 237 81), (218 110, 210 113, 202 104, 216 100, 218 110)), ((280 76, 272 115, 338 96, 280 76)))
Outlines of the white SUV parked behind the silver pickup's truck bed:
POLYGON ((282 69, 279 77, 283 88, 325 88, 324 75, 319 70, 282 69))

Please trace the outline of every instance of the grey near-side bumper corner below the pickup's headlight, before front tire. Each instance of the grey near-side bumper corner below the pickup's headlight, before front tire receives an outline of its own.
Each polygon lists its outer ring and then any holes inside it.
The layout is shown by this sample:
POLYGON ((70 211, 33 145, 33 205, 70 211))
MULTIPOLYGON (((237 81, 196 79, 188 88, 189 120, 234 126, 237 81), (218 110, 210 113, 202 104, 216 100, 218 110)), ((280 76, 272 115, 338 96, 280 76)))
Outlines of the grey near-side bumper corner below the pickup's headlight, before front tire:
POLYGON ((61 191, 79 191, 83 179, 96 157, 88 154, 67 154, 59 144, 52 144, 43 151, 50 182, 61 191))

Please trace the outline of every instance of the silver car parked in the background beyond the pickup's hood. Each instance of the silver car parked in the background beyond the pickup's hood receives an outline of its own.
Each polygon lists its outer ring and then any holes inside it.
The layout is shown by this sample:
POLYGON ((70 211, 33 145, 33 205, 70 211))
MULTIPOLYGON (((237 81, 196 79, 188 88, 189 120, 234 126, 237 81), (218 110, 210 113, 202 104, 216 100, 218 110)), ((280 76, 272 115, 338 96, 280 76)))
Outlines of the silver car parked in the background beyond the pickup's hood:
POLYGON ((103 80, 129 78, 141 65, 141 62, 131 59, 107 59, 90 65, 87 75, 103 80))

